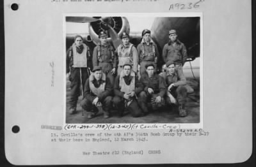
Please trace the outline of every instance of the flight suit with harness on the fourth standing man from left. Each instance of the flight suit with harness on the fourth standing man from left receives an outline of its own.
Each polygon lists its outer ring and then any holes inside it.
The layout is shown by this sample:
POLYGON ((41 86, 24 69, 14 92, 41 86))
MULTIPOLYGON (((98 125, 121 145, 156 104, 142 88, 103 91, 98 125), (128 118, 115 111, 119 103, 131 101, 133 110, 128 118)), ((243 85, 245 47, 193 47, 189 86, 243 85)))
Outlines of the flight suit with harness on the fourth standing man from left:
POLYGON ((140 62, 140 75, 145 73, 147 64, 154 64, 154 71, 157 71, 157 61, 159 59, 159 52, 156 44, 153 40, 150 40, 149 44, 141 40, 141 43, 137 47, 139 62, 140 62))

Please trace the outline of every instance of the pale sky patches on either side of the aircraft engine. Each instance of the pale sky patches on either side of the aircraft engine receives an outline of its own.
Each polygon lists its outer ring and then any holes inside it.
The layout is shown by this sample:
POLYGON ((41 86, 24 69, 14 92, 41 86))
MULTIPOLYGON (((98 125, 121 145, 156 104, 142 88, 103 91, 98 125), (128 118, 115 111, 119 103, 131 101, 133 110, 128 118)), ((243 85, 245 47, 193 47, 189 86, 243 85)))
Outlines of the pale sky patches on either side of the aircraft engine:
MULTIPOLYGON (((142 32, 143 29, 150 29, 154 17, 127 17, 131 32, 142 32)), ((66 33, 88 33, 88 23, 66 23, 66 33)))

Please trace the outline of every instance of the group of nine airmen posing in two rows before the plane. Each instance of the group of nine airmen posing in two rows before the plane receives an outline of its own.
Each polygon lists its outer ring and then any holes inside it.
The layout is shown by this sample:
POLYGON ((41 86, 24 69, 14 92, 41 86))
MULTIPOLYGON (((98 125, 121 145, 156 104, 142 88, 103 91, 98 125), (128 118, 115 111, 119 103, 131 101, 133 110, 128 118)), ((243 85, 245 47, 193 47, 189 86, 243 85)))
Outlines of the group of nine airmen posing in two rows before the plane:
POLYGON ((132 117, 143 117, 165 105, 178 105, 179 116, 186 117, 189 90, 182 71, 188 57, 186 47, 178 40, 175 29, 170 30, 170 41, 164 45, 162 55, 166 70, 157 74, 159 52, 156 43, 150 37, 150 30, 144 29, 141 35, 141 43, 136 48, 129 42, 129 34, 123 33, 122 44, 115 49, 108 42, 108 34, 102 31, 100 43, 92 55, 82 36, 74 37, 74 43, 67 50, 70 114, 77 112, 77 99, 82 94, 80 105, 88 119, 99 111, 108 118, 113 108, 119 117, 124 112, 130 112, 132 117))

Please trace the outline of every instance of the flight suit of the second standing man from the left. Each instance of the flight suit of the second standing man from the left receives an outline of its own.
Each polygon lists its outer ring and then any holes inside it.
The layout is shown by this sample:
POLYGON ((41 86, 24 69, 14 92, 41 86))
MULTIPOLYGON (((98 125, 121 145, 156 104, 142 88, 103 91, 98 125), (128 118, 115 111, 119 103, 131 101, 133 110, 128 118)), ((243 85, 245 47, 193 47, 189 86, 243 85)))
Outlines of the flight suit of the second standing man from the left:
POLYGON ((93 50, 93 67, 102 67, 103 73, 107 75, 111 84, 114 84, 115 75, 111 74, 111 70, 116 68, 117 57, 114 48, 109 45, 97 45, 93 50))

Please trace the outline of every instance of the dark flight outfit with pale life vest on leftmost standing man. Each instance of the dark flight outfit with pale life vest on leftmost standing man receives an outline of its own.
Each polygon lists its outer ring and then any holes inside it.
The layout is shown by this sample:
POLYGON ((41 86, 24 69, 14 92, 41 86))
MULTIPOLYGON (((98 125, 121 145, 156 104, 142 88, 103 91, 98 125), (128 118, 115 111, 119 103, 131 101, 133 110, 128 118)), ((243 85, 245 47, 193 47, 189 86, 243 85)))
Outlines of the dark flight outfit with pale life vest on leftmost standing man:
MULTIPOLYGON (((68 101, 69 108, 76 110, 77 99, 81 91, 81 79, 84 88, 84 83, 88 78, 88 68, 90 68, 89 62, 91 60, 90 48, 84 43, 80 47, 77 47, 75 43, 68 48, 66 57, 66 72, 70 73, 70 99, 68 101), (81 70, 81 75, 80 75, 81 70)), ((83 90, 82 90, 83 91, 83 90)))

